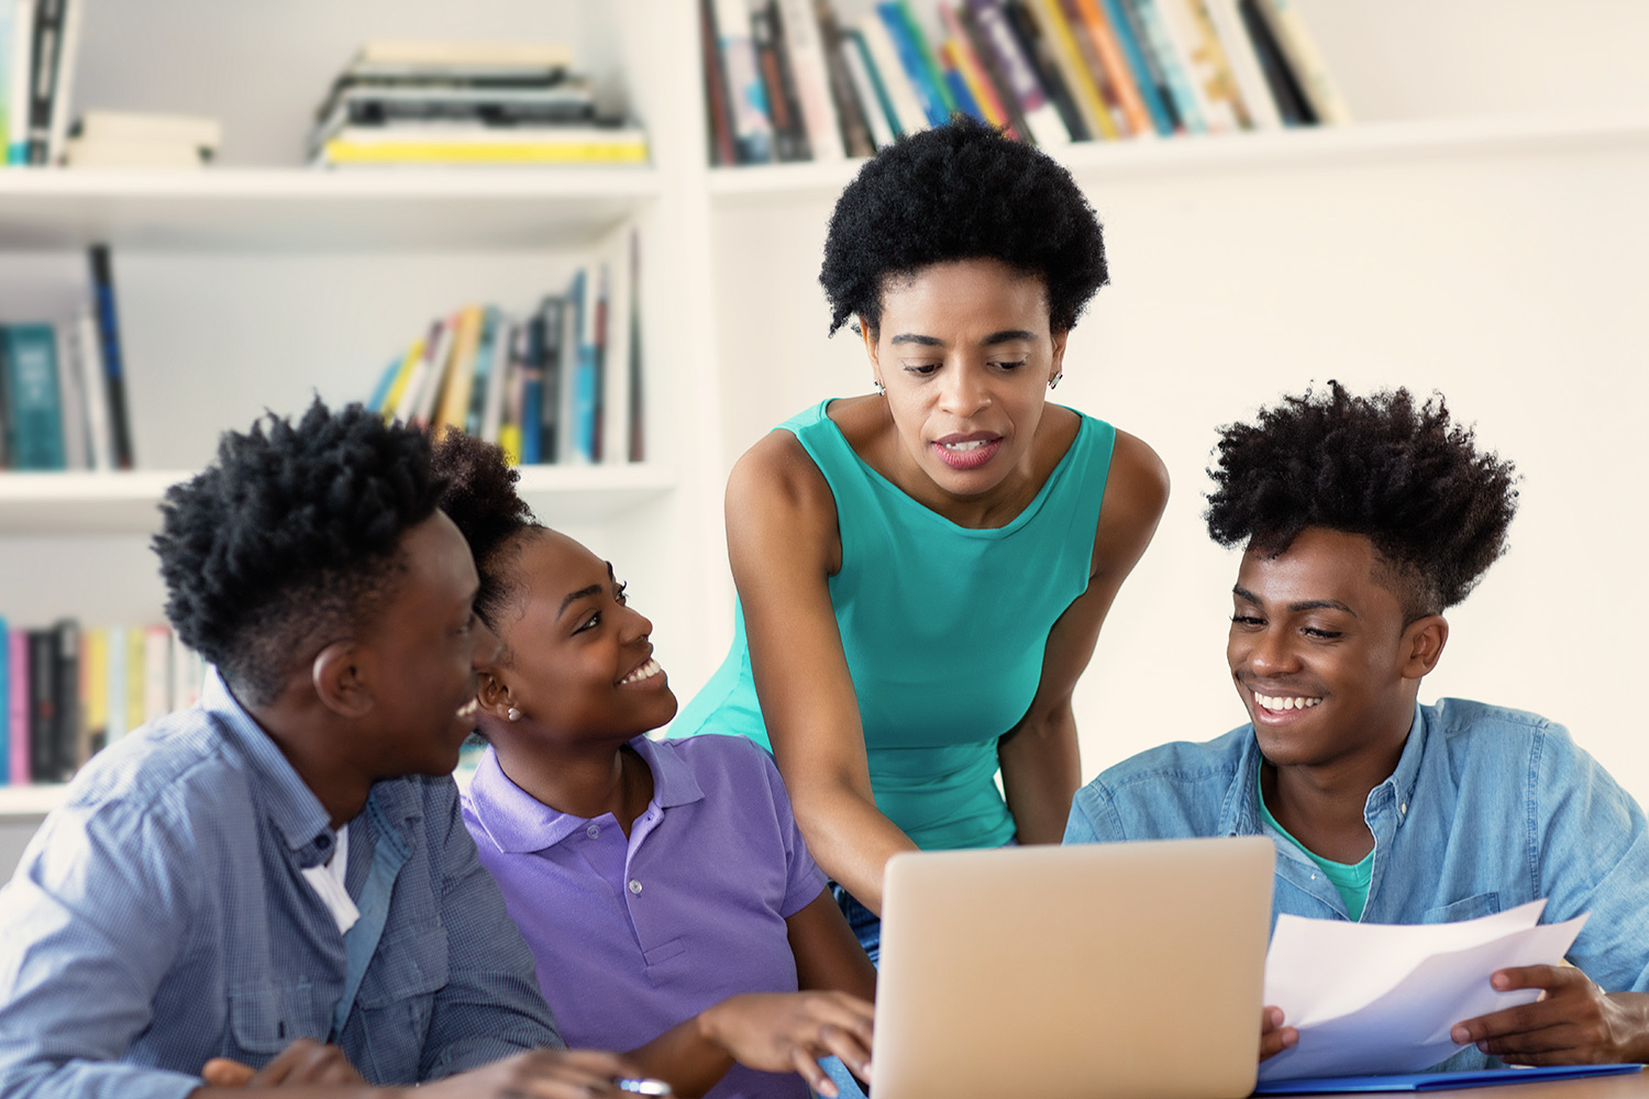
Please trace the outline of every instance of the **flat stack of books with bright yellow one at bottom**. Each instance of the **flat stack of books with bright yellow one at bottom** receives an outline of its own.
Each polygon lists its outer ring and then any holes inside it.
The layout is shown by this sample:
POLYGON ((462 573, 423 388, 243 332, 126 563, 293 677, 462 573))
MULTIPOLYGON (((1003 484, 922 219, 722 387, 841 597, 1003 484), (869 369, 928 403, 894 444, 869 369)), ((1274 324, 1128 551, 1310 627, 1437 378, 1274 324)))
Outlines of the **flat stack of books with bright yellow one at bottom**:
POLYGON ((566 46, 373 41, 333 81, 315 165, 643 163, 646 135, 597 117, 566 46))

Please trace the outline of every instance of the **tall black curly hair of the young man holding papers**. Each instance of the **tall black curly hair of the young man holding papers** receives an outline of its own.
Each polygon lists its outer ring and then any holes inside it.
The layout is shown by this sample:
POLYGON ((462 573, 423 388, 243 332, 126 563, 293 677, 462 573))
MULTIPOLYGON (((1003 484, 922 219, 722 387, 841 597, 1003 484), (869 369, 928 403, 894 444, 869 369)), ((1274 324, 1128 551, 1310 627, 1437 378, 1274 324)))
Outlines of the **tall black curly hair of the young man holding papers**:
POLYGON ((1449 422, 1441 394, 1354 397, 1331 381, 1220 432, 1204 519, 1220 545, 1275 555, 1306 527, 1362 534, 1408 588, 1413 621, 1454 606, 1506 552, 1510 461, 1449 422))

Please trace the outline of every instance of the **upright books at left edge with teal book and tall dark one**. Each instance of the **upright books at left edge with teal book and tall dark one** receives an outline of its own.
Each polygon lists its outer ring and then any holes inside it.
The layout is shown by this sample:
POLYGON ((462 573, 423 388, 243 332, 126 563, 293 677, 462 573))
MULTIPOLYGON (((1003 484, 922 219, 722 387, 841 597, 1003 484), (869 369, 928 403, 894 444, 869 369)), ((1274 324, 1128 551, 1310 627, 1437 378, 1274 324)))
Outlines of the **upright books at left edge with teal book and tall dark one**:
POLYGON ((0 470, 130 470, 132 428, 109 249, 66 323, 0 325, 0 470))

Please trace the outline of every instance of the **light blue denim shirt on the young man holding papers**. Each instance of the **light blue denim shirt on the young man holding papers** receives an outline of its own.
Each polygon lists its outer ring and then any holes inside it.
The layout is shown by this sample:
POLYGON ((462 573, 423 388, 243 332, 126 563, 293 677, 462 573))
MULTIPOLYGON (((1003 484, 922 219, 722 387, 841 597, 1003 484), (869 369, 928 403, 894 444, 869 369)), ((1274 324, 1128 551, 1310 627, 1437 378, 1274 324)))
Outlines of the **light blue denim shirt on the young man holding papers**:
MULTIPOLYGON (((1260 821, 1260 763, 1252 725, 1143 751, 1077 791, 1065 842, 1270 835, 1273 924, 1281 913, 1346 919, 1334 885, 1260 821)), ((1562 725, 1461 699, 1416 707, 1362 816, 1374 834, 1364 923, 1449 923, 1543 896, 1543 923, 1591 913, 1575 966, 1608 992, 1649 990, 1644 814, 1562 725)), ((1482 1061, 1468 1050, 1448 1068, 1482 1061)))

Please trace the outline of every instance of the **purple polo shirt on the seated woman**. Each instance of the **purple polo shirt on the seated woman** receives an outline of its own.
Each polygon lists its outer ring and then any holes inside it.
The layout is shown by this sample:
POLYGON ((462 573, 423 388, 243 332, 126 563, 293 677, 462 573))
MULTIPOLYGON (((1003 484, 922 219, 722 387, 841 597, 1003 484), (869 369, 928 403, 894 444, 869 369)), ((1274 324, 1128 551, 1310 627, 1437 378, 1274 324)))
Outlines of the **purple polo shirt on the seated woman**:
MULTIPOLYGON (((744 737, 630 741, 653 801, 625 837, 613 816, 557 812, 486 751, 463 824, 538 959, 569 1046, 633 1050, 739 992, 795 992, 785 919, 824 888, 772 758, 744 737)), ((734 1066, 711 1092, 808 1094, 795 1074, 734 1066)))

